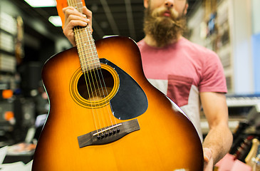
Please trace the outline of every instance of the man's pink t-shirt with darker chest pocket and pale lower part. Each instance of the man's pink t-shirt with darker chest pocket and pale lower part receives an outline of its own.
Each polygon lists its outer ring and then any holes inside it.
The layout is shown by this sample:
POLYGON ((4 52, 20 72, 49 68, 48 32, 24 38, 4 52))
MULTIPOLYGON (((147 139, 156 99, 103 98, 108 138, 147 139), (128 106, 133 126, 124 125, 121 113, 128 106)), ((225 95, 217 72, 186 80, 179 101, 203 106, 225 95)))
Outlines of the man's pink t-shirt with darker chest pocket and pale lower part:
POLYGON ((137 45, 147 79, 184 110, 202 138, 199 92, 227 93, 217 54, 186 38, 164 48, 148 46, 144 40, 137 45))

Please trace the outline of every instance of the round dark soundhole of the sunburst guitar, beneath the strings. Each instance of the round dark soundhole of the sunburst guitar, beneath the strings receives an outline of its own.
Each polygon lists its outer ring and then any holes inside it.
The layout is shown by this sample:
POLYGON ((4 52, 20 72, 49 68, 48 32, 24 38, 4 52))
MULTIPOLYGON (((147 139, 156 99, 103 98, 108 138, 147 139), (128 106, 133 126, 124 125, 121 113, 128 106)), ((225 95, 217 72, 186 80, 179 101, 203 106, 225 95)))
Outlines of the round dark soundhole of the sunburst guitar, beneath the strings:
POLYGON ((102 100, 113 90, 114 79, 109 71, 100 68, 82 74, 77 86, 78 93, 86 100, 102 100))

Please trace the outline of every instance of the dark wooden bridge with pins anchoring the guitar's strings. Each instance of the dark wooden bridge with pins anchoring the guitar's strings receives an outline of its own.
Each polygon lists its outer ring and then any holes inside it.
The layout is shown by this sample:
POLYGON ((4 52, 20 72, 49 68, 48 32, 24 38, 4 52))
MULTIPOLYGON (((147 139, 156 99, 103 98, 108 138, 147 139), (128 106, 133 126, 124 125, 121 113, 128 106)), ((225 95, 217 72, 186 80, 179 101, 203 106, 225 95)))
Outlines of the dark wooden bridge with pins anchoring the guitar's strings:
POLYGON ((106 128, 92 131, 78 137, 79 147, 88 145, 105 145, 123 138, 125 135, 140 130, 137 119, 128 120, 124 123, 118 123, 106 128))

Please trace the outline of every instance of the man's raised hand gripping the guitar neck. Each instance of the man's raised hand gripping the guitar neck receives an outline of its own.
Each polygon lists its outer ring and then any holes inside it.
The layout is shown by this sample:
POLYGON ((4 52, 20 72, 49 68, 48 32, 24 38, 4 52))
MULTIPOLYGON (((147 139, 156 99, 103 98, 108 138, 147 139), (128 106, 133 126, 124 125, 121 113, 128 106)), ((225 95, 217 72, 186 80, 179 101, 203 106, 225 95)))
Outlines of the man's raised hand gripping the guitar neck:
POLYGON ((87 7, 83 6, 83 14, 81 14, 74 7, 68 6, 63 9, 63 13, 65 14, 63 33, 72 45, 76 46, 73 28, 75 26, 87 26, 89 24, 90 29, 92 30, 92 12, 88 10, 87 7))

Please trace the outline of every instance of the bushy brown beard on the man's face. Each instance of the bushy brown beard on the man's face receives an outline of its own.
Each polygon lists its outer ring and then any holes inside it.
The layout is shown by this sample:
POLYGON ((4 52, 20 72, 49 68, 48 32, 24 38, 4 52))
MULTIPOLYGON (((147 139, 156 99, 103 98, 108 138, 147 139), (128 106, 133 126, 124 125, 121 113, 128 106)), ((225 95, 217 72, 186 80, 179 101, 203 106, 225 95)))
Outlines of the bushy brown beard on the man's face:
POLYGON ((151 11, 150 7, 145 9, 145 34, 152 36, 158 47, 177 41, 178 36, 182 35, 186 26, 186 19, 183 14, 178 17, 176 12, 172 10, 171 16, 162 16, 166 10, 160 8, 151 11))

